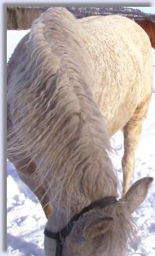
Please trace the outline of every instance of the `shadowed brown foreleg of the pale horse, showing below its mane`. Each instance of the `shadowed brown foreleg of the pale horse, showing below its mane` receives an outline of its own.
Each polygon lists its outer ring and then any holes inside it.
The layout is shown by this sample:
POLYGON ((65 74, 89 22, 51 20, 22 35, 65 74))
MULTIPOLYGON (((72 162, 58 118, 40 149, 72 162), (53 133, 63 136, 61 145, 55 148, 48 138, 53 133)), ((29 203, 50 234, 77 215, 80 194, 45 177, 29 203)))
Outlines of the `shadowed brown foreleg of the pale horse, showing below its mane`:
POLYGON ((14 164, 20 179, 22 179, 22 181, 24 181, 24 183, 27 184, 27 186, 38 197, 38 200, 42 205, 43 211, 45 212, 45 216, 48 219, 53 211, 53 207, 50 203, 48 193, 46 193, 47 186, 45 184, 42 184, 41 186, 37 187, 36 180, 32 178, 33 173, 36 169, 35 163, 30 163, 30 159, 28 158, 19 160, 20 158, 18 159, 17 157, 9 156, 8 159, 14 164))

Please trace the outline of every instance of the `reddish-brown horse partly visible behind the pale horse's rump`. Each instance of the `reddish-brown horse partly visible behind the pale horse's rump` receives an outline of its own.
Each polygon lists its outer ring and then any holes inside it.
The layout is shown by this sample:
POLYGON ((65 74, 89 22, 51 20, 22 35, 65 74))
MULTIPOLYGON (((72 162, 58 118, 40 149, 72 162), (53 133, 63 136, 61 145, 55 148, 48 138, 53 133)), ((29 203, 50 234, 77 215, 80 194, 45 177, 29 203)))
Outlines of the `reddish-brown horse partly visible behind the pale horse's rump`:
POLYGON ((140 19, 135 20, 135 22, 148 34, 151 45, 155 49, 155 22, 151 21, 151 19, 140 19))

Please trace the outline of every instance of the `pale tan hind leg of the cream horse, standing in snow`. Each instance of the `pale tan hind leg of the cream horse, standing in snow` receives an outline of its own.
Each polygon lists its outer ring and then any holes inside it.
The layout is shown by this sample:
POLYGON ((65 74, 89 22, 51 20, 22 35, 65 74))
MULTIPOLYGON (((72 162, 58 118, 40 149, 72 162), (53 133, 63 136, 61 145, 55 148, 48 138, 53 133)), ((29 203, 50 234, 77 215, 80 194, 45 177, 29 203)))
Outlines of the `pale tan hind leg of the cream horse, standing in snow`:
POLYGON ((138 147, 143 121, 146 118, 151 95, 141 102, 133 116, 123 128, 124 155, 122 158, 123 169, 123 195, 130 187, 130 181, 135 169, 135 150, 138 147))

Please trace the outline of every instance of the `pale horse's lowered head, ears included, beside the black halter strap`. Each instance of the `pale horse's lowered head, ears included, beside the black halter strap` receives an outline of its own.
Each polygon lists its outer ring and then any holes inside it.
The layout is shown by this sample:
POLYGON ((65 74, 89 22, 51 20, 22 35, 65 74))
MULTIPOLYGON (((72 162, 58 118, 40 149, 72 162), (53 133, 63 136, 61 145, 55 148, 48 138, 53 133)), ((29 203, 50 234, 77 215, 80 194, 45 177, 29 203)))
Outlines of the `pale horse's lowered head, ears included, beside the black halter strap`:
MULTIPOLYGON (((64 239, 58 256, 124 256, 134 233, 131 213, 144 201, 152 181, 139 179, 122 199, 84 213, 64 239)), ((56 240, 45 236, 45 253, 56 255, 56 240)))

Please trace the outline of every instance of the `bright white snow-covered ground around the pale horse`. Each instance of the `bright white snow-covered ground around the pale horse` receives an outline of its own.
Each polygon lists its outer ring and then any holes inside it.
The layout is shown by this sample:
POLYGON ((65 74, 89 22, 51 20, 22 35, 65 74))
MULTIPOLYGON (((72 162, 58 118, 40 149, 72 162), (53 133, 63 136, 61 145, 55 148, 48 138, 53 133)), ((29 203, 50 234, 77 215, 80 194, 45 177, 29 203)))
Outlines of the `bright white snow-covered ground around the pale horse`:
MULTIPOLYGON (((7 31, 7 61, 15 45, 27 31, 7 31)), ((155 65, 155 50, 153 50, 155 65)), ((144 176, 155 180, 155 68, 154 90, 149 113, 143 125, 143 134, 136 151, 136 168, 133 181, 144 176)), ((118 132, 112 138, 117 149, 113 163, 122 181, 121 158, 123 155, 123 136, 118 132)), ((155 181, 149 189, 144 203, 134 213, 138 225, 138 236, 128 255, 155 255, 155 181)), ((30 189, 20 181, 14 166, 7 161, 7 255, 44 256, 43 230, 46 218, 42 207, 30 189)))

